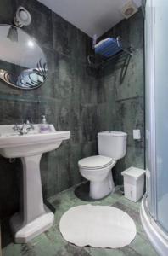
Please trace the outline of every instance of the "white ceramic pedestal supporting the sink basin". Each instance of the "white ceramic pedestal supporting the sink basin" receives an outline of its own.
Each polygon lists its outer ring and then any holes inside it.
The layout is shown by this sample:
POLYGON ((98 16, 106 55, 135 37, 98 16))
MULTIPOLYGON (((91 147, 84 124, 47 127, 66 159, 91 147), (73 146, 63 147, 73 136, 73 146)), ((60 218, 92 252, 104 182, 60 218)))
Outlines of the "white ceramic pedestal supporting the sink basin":
POLYGON ((43 204, 40 160, 42 154, 22 157, 23 182, 20 193, 20 212, 10 220, 14 241, 25 243, 48 230, 54 215, 43 204))

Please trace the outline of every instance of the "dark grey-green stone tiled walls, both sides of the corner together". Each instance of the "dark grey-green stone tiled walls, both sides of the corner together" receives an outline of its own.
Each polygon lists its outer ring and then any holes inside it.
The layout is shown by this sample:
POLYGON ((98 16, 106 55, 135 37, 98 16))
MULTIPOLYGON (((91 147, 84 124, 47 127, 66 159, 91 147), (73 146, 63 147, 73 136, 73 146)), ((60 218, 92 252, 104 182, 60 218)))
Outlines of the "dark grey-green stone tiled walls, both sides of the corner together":
MULTIPOLYGON (((31 91, 15 90, 0 81, 0 124, 22 119, 39 123, 46 114, 57 130, 71 131, 70 141, 42 156, 44 198, 81 182, 77 161, 97 154, 98 131, 126 131, 127 154, 113 171, 115 183, 122 183, 120 172, 126 166, 143 167, 144 160, 143 139, 132 140, 133 128, 140 128, 142 134, 144 130, 143 16, 139 12, 104 35, 120 35, 132 42, 136 51, 131 60, 120 58, 96 70, 86 61, 91 39, 36 0, 0 1, 0 23, 12 24, 19 5, 31 13, 31 25, 23 29, 47 55, 48 79, 31 91)), ((0 218, 18 210, 21 169, 20 160, 0 157, 0 218)))

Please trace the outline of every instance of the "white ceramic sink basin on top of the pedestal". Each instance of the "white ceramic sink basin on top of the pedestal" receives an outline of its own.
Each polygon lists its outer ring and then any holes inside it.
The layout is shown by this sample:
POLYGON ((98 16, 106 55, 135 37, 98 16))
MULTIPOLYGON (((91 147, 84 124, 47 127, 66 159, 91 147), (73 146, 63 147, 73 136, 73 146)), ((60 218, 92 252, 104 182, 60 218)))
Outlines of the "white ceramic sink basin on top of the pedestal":
POLYGON ((7 158, 42 154, 59 147, 63 140, 70 138, 70 131, 55 131, 49 125, 48 133, 40 132, 40 125, 33 125, 34 130, 20 135, 13 130, 14 125, 0 125, 0 154, 7 158))

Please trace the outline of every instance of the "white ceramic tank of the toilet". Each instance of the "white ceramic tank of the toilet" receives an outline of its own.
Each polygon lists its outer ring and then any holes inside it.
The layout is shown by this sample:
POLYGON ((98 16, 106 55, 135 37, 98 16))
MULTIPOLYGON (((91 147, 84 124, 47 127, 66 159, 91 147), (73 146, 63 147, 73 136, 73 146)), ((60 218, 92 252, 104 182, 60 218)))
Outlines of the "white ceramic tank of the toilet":
POLYGON ((127 134, 121 131, 98 132, 98 154, 119 160, 126 154, 127 134))

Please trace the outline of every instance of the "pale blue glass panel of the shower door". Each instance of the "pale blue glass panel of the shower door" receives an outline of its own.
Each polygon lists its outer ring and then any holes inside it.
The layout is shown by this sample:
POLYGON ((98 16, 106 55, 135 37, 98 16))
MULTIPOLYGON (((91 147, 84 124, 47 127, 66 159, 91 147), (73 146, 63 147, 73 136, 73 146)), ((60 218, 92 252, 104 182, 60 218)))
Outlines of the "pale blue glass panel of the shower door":
POLYGON ((157 219, 168 231, 168 1, 154 2, 157 219))

